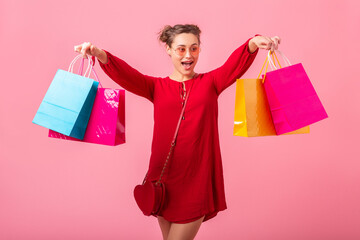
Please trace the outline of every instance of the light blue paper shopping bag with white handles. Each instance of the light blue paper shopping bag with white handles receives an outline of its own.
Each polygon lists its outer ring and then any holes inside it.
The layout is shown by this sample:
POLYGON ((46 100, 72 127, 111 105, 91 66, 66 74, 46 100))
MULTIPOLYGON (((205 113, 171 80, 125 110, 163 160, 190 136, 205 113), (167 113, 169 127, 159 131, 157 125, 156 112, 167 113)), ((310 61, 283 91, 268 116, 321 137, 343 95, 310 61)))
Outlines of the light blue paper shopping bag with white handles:
POLYGON ((72 72, 74 63, 81 56, 74 58, 68 71, 57 70, 32 121, 78 139, 84 138, 99 84, 86 74, 81 76, 72 72))

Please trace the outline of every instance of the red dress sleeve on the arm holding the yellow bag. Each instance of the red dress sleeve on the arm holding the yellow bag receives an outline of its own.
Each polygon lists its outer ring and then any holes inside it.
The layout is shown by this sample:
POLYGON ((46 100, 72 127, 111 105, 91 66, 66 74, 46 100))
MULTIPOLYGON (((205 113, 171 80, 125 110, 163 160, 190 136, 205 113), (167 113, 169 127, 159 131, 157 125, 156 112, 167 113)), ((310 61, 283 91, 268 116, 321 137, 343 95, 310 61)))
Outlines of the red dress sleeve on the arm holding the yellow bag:
MULTIPOLYGON (((256 34, 255 36, 260 35, 256 34)), ((238 47, 221 67, 210 72, 213 75, 214 86, 218 95, 240 78, 255 60, 259 48, 250 53, 250 40, 251 38, 238 47)))

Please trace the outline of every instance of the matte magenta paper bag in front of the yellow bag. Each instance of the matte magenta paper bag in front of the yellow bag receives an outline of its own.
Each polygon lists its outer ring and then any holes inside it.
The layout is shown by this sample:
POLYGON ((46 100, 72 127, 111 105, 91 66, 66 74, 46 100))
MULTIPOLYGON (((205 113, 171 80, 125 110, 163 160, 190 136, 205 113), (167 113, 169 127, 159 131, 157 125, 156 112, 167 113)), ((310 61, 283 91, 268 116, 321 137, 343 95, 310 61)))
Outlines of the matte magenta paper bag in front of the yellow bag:
MULTIPOLYGON (((297 130, 328 117, 301 63, 277 69, 268 53, 273 71, 267 72, 264 88, 278 135, 297 130)), ((275 55, 276 56, 276 55, 275 55)))

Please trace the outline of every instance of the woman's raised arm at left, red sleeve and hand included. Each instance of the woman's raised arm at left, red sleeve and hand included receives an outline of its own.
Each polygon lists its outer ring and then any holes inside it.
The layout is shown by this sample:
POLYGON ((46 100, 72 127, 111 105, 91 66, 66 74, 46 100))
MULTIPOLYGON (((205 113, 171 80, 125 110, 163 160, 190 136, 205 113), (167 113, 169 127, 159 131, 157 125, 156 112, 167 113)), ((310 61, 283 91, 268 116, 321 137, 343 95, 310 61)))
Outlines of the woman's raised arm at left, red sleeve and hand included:
POLYGON ((153 102, 155 77, 140 73, 124 60, 106 50, 95 47, 89 42, 75 46, 74 50, 83 54, 84 57, 87 57, 87 55, 92 56, 93 59, 96 57, 100 67, 114 82, 129 92, 153 102))

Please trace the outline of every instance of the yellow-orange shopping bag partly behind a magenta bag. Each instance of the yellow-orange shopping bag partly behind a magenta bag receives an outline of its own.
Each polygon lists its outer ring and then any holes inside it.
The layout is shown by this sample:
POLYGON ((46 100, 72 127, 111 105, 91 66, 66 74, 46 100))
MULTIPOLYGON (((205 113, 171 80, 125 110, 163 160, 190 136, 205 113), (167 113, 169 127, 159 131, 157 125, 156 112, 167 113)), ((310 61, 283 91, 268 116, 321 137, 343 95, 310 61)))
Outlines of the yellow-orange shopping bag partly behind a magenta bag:
MULTIPOLYGON (((242 137, 274 136, 277 135, 271 118, 269 104, 266 98, 263 79, 237 79, 235 94, 234 135, 242 137)), ((266 65, 265 72, 268 65, 266 65)), ((309 133, 306 126, 287 134, 309 133)))

